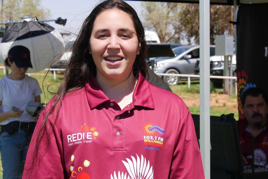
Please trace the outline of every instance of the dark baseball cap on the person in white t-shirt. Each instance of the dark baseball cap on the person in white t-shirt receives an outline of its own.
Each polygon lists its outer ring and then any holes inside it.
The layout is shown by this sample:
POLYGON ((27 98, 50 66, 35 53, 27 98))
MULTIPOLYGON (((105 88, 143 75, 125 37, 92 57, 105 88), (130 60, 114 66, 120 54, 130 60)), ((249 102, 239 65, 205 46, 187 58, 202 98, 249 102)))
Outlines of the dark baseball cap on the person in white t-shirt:
POLYGON ((15 62, 19 68, 33 68, 30 58, 30 50, 22 45, 12 47, 8 52, 8 58, 15 62))

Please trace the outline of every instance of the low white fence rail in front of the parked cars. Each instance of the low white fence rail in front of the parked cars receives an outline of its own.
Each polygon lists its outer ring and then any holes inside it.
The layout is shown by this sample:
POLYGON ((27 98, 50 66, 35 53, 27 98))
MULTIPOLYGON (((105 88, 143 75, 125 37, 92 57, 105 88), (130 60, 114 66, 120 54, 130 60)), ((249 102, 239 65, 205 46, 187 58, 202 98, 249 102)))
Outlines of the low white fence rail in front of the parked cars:
MULTIPOLYGON (((0 68, 3 69, 3 73, 4 75, 6 75, 6 67, 0 66, 0 68)), ((56 74, 57 71, 65 71, 65 69, 63 68, 46 68, 44 69, 46 71, 53 71, 53 77, 54 80, 56 79, 56 74)), ((157 75, 161 75, 161 76, 178 76, 178 77, 187 77, 188 78, 188 89, 191 86, 191 78, 200 78, 200 75, 186 75, 186 74, 168 74, 168 73, 156 73, 157 75)), ((28 75, 30 76, 30 73, 28 73, 28 75)), ((237 95, 237 78, 236 77, 227 77, 227 76, 210 76, 210 78, 216 78, 216 79, 230 79, 231 80, 231 84, 232 84, 232 80, 235 80, 235 94, 237 95)), ((232 85, 231 85, 232 86, 232 85)), ((232 88, 231 88, 232 89, 232 88)))

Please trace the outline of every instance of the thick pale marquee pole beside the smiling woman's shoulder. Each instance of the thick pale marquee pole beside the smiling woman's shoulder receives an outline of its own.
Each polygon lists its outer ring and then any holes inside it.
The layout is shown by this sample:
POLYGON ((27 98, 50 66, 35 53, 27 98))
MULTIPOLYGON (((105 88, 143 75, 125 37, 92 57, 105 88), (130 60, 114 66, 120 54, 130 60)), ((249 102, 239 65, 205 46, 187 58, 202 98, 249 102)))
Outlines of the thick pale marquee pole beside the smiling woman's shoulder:
POLYGON ((199 1, 200 151, 205 178, 210 179, 210 1, 199 1))

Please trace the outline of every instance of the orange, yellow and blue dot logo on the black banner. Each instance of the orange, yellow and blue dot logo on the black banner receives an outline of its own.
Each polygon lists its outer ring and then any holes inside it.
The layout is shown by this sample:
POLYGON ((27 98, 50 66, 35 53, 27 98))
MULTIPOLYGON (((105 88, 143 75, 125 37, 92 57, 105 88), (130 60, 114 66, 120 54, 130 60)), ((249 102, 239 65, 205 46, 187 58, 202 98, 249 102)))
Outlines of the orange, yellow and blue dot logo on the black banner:
POLYGON ((241 98, 244 91, 246 91, 248 88, 256 87, 256 84, 248 83, 248 75, 247 73, 242 70, 237 73, 237 89, 238 89, 238 115, 240 119, 245 118, 245 115, 243 114, 242 109, 242 101, 241 98))

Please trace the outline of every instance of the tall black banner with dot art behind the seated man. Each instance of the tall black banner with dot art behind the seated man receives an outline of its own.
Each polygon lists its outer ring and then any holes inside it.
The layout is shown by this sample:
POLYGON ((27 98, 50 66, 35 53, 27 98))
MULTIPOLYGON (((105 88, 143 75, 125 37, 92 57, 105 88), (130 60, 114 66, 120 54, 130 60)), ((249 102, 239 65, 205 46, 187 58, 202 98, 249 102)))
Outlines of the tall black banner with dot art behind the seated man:
POLYGON ((268 93, 268 3, 239 6, 237 23, 238 114, 243 119, 243 92, 260 87, 268 93))

